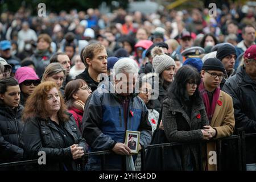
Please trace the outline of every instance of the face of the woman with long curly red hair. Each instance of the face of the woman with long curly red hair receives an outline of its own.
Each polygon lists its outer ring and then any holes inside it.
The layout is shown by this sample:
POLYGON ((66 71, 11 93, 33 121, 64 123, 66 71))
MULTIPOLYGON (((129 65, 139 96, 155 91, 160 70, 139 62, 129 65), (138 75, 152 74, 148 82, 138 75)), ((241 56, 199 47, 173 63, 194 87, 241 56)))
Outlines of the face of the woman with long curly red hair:
POLYGON ((52 88, 47 93, 46 108, 49 114, 57 113, 60 110, 60 96, 57 88, 52 88))

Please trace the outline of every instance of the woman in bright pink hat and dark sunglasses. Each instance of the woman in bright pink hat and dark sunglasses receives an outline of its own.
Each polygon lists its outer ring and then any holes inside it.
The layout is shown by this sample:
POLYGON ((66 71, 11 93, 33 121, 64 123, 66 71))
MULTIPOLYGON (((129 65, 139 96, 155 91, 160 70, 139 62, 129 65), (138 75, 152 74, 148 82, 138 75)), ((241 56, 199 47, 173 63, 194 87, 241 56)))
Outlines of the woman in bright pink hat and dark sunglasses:
POLYGON ((34 92, 36 86, 38 86, 41 81, 34 69, 30 67, 20 67, 17 69, 14 78, 19 82, 20 104, 24 105, 28 96, 34 92))

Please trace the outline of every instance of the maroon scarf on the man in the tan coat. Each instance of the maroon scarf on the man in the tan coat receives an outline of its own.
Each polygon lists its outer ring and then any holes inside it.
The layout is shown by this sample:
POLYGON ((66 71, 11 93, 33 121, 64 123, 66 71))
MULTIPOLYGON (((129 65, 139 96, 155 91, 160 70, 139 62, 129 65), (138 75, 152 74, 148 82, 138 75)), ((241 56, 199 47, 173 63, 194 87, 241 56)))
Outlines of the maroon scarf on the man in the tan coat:
POLYGON ((217 104, 217 101, 218 101, 218 97, 220 96, 220 86, 218 86, 214 90, 213 98, 212 98, 212 105, 210 105, 207 90, 205 90, 205 88, 204 88, 203 78, 201 80, 201 84, 199 85, 199 91, 200 91, 200 94, 201 94, 201 96, 204 100, 204 105, 205 105, 205 108, 206 108, 206 111, 207 111, 207 116, 208 116, 209 122, 211 122, 212 121, 212 116, 213 116, 213 113, 214 113, 214 110, 215 110, 215 107, 216 107, 216 104, 217 104))

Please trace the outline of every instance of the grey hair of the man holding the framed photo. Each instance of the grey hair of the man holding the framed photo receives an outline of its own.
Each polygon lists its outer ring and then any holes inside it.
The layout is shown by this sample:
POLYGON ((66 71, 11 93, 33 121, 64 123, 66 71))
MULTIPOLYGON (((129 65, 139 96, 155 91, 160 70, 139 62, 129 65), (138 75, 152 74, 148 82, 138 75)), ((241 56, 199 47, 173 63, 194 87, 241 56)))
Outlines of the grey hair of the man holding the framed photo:
POLYGON ((139 67, 136 61, 130 59, 129 57, 124 57, 119 59, 117 63, 114 64, 115 75, 119 73, 138 73, 139 67))

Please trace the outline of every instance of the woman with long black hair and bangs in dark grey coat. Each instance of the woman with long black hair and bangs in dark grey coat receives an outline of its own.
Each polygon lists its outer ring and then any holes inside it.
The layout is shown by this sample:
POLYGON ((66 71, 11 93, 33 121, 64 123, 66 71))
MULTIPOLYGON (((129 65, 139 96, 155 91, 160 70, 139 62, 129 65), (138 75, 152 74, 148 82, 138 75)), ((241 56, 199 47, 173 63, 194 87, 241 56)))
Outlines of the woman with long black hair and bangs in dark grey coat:
POLYGON ((210 134, 203 130, 209 121, 197 88, 200 80, 195 68, 181 67, 163 101, 162 122, 168 142, 188 142, 174 147, 174 170, 199 170, 200 147, 193 142, 210 138, 210 134))

